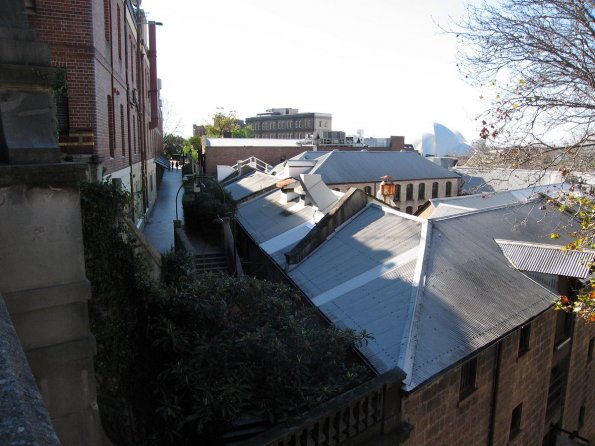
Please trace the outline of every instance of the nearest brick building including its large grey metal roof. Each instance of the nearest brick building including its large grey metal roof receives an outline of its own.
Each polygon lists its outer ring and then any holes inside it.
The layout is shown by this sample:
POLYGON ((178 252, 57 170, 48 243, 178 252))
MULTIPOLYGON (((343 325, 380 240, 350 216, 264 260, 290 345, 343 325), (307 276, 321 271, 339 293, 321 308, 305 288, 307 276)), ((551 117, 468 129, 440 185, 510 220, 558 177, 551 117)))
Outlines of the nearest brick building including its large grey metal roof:
POLYGON ((569 215, 533 198, 422 219, 358 189, 321 193, 317 175, 300 183, 239 205, 241 255, 249 273, 293 284, 330 323, 370 333, 358 350, 379 375, 405 373, 411 430, 394 444, 595 439, 595 325, 552 309, 595 257, 550 239, 571 230, 569 215))

